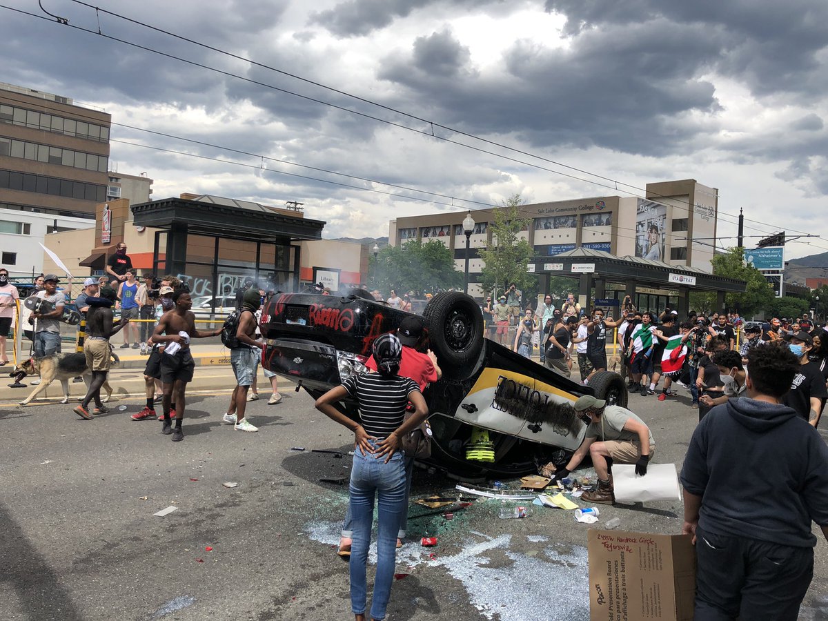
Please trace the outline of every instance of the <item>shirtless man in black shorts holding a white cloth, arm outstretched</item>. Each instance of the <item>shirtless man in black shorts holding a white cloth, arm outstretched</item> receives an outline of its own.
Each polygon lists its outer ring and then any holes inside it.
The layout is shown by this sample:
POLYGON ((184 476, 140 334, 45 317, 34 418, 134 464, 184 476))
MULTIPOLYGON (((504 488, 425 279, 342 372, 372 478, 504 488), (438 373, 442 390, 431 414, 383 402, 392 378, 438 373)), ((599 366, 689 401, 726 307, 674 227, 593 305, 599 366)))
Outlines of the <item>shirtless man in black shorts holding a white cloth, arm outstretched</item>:
POLYGON ((161 354, 161 383, 164 386, 164 418, 161 425, 161 433, 169 436, 172 434, 173 442, 184 440, 184 432, 181 431, 181 420, 184 418, 185 390, 187 383, 193 379, 195 361, 190 354, 190 339, 205 339, 210 336, 221 334, 221 328, 209 332, 195 330, 195 315, 190 308, 193 306, 190 293, 187 291, 176 291, 172 294, 172 301, 175 303, 173 310, 161 315, 155 331, 152 333, 152 340, 165 345, 164 353, 161 354), (170 344, 176 343, 180 346, 175 353, 170 353, 170 344), (171 403, 176 402, 176 429, 173 431, 170 418, 171 403))

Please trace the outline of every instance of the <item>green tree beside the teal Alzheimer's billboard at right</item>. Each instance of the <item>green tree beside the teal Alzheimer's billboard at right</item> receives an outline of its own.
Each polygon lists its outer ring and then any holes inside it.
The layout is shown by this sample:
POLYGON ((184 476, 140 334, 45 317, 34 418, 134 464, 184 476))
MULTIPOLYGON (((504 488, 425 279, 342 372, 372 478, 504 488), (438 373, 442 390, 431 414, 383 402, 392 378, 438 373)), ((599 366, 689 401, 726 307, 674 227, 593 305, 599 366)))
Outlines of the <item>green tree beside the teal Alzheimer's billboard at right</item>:
MULTIPOLYGON (((767 312, 774 301, 773 290, 762 272, 752 265, 745 265, 742 248, 729 248, 726 253, 717 254, 713 260, 715 276, 735 278, 747 283, 744 293, 729 293, 724 296, 724 304, 729 310, 739 309, 747 318, 758 313, 767 312)), ((716 306, 716 294, 713 292, 691 292, 690 305, 699 312, 710 313, 716 306)))

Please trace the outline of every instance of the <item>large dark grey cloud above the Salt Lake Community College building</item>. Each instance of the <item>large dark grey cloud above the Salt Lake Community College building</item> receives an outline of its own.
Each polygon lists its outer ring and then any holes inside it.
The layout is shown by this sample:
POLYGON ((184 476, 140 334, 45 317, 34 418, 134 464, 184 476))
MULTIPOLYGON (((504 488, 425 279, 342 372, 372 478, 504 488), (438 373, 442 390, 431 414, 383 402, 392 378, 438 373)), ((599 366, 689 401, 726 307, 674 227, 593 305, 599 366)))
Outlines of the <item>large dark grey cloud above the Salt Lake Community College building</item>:
MULTIPOLYGON (((701 34, 700 26, 661 21, 586 31, 566 50, 520 41, 501 75, 469 70, 463 80, 423 63, 415 44, 411 55, 388 58, 378 77, 407 87, 406 97, 440 123, 472 133, 516 133, 533 147, 660 154, 704 131, 683 117, 719 108, 713 84, 698 77, 717 55, 719 35, 701 34)), ((435 37, 451 49, 445 32, 435 37)))

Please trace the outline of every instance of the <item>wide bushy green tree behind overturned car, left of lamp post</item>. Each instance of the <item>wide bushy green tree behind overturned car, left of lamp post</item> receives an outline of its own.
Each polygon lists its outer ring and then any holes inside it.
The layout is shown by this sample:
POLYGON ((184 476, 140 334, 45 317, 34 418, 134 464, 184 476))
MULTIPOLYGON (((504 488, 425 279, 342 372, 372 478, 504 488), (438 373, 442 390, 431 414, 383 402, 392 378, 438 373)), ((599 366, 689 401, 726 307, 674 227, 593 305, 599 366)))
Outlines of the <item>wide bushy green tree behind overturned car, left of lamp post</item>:
POLYGON ((382 291, 383 296, 392 289, 399 296, 414 291, 421 297, 463 286, 463 274, 455 268, 451 251, 436 239, 386 246, 376 260, 373 256, 368 259, 368 274, 369 286, 382 291))

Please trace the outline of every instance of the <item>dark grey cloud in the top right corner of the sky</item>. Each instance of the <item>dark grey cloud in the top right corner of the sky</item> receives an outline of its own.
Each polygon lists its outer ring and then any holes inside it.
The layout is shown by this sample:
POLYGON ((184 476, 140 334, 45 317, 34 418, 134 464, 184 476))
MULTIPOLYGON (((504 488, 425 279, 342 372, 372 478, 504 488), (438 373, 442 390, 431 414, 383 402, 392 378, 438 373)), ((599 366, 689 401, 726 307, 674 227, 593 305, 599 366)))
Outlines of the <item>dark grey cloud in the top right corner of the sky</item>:
POLYGON ((546 10, 566 16, 565 33, 665 18, 685 26, 721 29, 715 69, 747 84, 755 94, 828 88, 819 54, 828 46, 828 3, 812 0, 546 0, 546 10))

